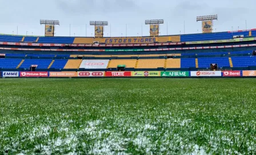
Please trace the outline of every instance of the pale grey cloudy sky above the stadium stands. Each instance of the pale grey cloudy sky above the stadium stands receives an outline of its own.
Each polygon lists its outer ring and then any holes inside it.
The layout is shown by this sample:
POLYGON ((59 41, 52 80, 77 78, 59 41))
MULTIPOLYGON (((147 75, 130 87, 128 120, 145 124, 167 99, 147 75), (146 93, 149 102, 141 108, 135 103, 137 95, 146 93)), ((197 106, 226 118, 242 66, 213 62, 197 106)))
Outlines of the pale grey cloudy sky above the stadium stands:
POLYGON ((108 21, 105 36, 149 35, 145 19, 164 19, 161 35, 201 32, 199 15, 218 14, 214 31, 256 28, 255 0, 0 0, 0 33, 44 35, 40 19, 60 21, 56 36, 91 36, 90 21, 108 21), (86 26, 87 25, 87 26, 86 26), (86 28, 87 27, 87 28, 86 28), (216 28, 216 30, 215 30, 216 28))

